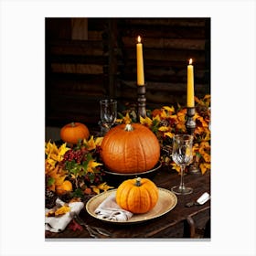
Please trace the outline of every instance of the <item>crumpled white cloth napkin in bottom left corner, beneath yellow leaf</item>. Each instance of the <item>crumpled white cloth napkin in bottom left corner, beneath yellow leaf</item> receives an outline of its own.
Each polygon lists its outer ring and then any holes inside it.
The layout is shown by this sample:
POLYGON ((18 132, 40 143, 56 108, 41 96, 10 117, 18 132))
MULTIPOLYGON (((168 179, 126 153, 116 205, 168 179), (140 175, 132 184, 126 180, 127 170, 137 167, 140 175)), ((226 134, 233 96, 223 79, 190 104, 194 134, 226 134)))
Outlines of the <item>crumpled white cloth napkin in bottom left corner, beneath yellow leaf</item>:
MULTIPOLYGON (((56 199, 56 207, 59 208, 64 206, 65 202, 61 201, 59 198, 56 199)), ((51 232, 61 232, 68 226, 71 219, 73 219, 74 214, 80 214, 80 210, 84 207, 82 202, 72 202, 69 203, 70 211, 59 217, 46 217, 45 218, 45 229, 51 232)), ((51 209, 45 208, 45 214, 51 209)))

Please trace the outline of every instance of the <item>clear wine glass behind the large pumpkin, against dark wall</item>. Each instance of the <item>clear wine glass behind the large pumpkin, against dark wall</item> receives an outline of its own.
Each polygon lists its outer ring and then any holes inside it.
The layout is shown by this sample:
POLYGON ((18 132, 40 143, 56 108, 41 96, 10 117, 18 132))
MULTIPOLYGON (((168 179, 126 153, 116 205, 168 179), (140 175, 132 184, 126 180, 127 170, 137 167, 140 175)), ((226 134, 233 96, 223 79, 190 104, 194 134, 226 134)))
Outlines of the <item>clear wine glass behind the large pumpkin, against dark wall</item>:
POLYGON ((101 130, 107 133, 116 120, 117 116, 117 101, 108 99, 101 100, 101 130))

